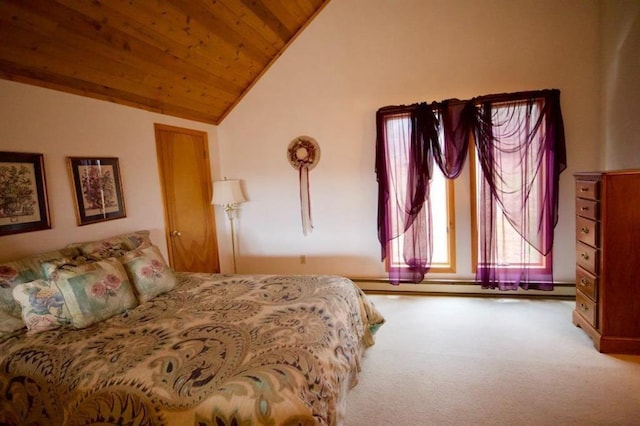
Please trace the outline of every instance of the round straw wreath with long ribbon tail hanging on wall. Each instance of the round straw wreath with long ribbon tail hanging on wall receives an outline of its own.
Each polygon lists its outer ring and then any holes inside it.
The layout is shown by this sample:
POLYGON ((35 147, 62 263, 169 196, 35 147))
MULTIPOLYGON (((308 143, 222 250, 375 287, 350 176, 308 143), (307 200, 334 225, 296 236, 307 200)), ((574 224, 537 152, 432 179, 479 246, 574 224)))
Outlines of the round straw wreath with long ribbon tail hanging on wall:
POLYGON ((299 136, 289 143, 287 158, 291 166, 298 170, 302 233, 306 236, 313 231, 309 171, 320 160, 320 147, 315 139, 309 136, 299 136))

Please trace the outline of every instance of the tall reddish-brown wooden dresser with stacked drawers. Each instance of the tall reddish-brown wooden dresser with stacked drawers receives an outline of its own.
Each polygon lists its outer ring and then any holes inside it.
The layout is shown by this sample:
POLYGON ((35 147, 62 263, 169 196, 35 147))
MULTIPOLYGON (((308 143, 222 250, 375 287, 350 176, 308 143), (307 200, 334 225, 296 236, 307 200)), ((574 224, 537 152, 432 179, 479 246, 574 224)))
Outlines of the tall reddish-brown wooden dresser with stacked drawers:
POLYGON ((600 352, 640 354, 640 170, 574 177, 573 323, 600 352))

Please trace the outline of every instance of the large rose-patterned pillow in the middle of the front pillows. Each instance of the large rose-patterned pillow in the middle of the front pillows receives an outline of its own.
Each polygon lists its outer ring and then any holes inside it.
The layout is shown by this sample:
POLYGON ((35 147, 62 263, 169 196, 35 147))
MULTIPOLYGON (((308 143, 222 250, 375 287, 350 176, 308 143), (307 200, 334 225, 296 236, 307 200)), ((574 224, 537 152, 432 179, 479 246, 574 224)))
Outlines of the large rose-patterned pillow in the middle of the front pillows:
POLYGON ((52 278, 64 296, 75 328, 85 328, 137 306, 124 267, 115 258, 58 269, 52 278))

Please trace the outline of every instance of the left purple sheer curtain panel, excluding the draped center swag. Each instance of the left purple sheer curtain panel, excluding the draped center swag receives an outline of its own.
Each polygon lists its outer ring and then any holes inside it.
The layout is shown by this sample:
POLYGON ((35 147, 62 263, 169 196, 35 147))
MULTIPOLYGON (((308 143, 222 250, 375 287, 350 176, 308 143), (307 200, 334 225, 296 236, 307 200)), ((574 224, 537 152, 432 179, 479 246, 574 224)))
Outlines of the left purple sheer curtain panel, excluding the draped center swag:
POLYGON ((420 282, 431 259, 429 181, 437 123, 426 104, 390 107, 376 115, 378 239, 382 260, 391 240, 402 238, 403 264, 388 264, 389 281, 420 282), (394 143, 388 143, 393 140, 394 143))

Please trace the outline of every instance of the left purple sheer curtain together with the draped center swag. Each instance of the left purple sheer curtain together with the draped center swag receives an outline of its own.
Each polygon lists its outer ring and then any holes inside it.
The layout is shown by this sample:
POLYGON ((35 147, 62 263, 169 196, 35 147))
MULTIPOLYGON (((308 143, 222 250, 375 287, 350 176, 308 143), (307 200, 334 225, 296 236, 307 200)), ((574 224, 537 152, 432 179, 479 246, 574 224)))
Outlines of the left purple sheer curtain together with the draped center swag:
POLYGON ((389 282, 420 282, 430 268, 434 160, 445 177, 462 171, 474 109, 453 100, 445 108, 426 103, 381 108, 376 115, 378 239, 382 260, 389 242, 401 238, 403 263, 388 263, 389 282), (439 132, 440 123, 443 132, 439 132), (442 137, 440 137, 442 136, 442 137), (393 141, 393 143, 391 143, 393 141))

